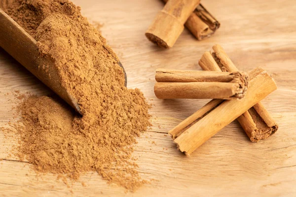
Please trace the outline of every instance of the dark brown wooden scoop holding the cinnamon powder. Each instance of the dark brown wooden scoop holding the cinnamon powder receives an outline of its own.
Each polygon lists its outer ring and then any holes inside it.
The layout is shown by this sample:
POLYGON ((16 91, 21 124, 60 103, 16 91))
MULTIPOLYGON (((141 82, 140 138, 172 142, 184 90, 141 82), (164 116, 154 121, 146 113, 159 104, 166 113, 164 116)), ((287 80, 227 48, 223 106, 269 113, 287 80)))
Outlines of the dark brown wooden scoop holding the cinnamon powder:
MULTIPOLYGON (((83 115, 77 100, 62 87, 58 70, 55 69, 52 60, 41 57, 37 48, 37 41, 1 9, 0 47, 70 104, 78 113, 83 115)), ((120 62, 118 62, 118 64, 124 71, 126 86, 125 70, 120 62)))

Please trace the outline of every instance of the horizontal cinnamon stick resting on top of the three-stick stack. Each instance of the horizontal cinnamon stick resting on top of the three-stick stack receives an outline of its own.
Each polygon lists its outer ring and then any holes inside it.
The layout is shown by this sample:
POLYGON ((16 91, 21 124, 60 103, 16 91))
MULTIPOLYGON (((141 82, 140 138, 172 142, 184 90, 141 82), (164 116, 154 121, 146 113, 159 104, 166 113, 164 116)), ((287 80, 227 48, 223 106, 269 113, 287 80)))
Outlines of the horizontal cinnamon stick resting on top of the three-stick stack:
POLYGON ((244 72, 159 68, 155 80, 158 99, 242 99, 249 78, 244 72))

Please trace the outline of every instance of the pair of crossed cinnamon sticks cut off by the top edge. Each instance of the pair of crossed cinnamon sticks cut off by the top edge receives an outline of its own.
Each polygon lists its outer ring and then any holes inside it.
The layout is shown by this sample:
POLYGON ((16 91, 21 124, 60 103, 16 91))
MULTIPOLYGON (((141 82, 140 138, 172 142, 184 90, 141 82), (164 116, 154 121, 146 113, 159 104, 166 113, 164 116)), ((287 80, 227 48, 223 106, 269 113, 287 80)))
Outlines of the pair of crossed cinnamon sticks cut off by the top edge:
POLYGON ((200 0, 162 0, 164 8, 157 14, 146 37, 163 48, 171 48, 185 27, 198 39, 210 37, 220 23, 201 5, 200 0))

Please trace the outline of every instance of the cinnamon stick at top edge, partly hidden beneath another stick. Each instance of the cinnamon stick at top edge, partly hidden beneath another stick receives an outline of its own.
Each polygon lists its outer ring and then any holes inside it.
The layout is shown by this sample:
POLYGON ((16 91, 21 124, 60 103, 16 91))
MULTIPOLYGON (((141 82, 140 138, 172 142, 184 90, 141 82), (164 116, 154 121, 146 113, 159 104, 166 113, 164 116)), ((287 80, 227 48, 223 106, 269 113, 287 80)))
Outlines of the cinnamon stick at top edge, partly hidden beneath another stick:
MULTIPOLYGON (((162 0, 165 3, 168 0, 162 0)), ((220 23, 200 3, 185 23, 185 27, 198 39, 202 40, 213 35, 219 29, 220 23)))

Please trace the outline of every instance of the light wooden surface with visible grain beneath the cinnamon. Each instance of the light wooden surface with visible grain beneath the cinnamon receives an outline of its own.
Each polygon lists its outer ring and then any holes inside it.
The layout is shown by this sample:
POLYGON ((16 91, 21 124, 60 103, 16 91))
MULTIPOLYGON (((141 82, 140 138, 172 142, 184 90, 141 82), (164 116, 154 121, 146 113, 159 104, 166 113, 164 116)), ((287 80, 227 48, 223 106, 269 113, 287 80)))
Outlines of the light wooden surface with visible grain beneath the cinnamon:
MULTIPOLYGON (((104 24, 102 33, 125 67, 128 87, 140 88, 153 105, 153 127, 138 139, 134 156, 139 158, 142 177, 155 180, 126 194, 93 172, 67 188, 55 175, 37 177, 30 164, 11 156, 17 136, 5 139, 0 132, 0 196, 296 196, 295 0, 204 0, 221 28, 203 41, 185 30, 170 50, 152 45, 144 35, 163 6, 160 0, 74 2, 91 22, 104 24), (215 43, 224 47, 240 70, 262 66, 274 77, 278 90, 262 103, 279 130, 253 143, 234 121, 186 157, 165 134, 208 100, 156 99, 155 69, 201 70, 198 60, 215 43)), ((0 127, 13 120, 15 90, 37 95, 50 92, 0 49, 0 127)))

